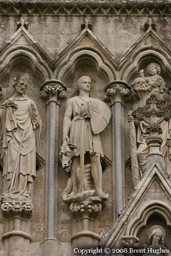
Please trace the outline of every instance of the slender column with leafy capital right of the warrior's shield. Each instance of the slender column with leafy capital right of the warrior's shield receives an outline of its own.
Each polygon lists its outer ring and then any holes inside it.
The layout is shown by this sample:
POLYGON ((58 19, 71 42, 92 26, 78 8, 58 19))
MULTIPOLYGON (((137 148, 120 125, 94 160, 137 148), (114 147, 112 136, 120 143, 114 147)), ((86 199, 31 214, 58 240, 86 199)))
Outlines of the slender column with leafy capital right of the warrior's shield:
POLYGON ((112 184, 116 194, 116 218, 124 206, 123 184, 123 138, 122 138, 122 105, 124 105, 124 96, 130 93, 130 86, 124 81, 110 82, 105 88, 109 96, 112 107, 112 184), (114 150, 115 149, 115 150, 114 150), (115 169, 115 176, 114 176, 115 169))

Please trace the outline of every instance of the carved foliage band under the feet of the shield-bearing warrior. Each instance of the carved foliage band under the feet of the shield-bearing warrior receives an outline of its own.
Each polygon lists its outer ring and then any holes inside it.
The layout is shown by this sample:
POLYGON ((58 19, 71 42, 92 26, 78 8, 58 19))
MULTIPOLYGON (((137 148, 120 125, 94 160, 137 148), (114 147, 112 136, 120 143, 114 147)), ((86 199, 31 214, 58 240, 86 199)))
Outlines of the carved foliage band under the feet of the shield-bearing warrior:
POLYGON ((81 201, 70 204, 70 211, 72 213, 81 213, 81 214, 89 214, 91 213, 100 213, 102 209, 102 205, 99 202, 93 201, 81 201))

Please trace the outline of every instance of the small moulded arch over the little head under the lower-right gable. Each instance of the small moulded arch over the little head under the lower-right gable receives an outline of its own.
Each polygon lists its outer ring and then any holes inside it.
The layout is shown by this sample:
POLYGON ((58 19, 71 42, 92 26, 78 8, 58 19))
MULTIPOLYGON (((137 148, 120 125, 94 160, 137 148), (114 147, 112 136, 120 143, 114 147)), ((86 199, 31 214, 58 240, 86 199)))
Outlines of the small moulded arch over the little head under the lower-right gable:
POLYGON ((158 213, 166 220, 166 224, 171 226, 171 207, 163 201, 154 200, 143 205, 137 212, 137 216, 132 218, 126 228, 126 236, 137 236, 137 232, 146 226, 147 220, 154 213, 158 213))

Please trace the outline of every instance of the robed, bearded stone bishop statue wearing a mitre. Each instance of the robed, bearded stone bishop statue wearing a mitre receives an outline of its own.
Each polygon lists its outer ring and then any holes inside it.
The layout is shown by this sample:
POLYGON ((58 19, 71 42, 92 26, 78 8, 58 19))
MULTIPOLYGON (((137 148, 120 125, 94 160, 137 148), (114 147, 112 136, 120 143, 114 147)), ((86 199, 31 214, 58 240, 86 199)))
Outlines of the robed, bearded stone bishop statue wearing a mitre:
POLYGON ((33 192, 41 118, 25 94, 29 80, 28 74, 15 78, 14 92, 1 106, 3 199, 31 199, 33 192))

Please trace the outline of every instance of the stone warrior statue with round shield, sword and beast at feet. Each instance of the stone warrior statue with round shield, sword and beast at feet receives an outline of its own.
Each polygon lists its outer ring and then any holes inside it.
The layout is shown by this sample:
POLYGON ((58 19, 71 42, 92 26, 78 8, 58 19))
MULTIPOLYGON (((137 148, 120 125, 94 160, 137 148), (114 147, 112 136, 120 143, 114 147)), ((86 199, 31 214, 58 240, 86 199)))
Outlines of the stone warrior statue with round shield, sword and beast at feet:
POLYGON ((107 199, 108 195, 102 191, 100 133, 109 123, 110 109, 99 99, 89 97, 89 76, 81 76, 77 86, 80 95, 68 99, 64 114, 62 167, 71 170, 71 178, 62 198, 70 201, 97 195, 107 199), (89 162, 87 165, 84 165, 85 159, 89 162))

